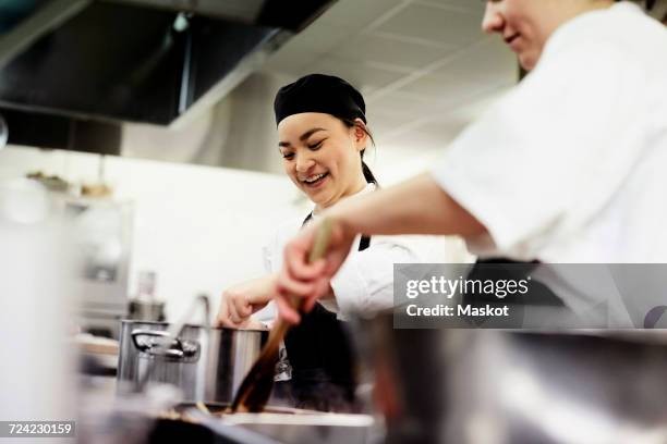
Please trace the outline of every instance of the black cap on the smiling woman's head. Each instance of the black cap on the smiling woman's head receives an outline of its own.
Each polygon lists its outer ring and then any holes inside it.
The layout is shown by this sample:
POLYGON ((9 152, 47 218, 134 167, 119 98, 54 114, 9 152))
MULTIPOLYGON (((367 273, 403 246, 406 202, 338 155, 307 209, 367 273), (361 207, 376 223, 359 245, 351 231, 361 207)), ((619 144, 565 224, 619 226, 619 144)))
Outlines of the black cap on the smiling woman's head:
POLYGON ((366 123, 366 103, 361 92, 342 78, 308 74, 278 90, 274 101, 276 125, 302 112, 323 112, 339 119, 366 123))

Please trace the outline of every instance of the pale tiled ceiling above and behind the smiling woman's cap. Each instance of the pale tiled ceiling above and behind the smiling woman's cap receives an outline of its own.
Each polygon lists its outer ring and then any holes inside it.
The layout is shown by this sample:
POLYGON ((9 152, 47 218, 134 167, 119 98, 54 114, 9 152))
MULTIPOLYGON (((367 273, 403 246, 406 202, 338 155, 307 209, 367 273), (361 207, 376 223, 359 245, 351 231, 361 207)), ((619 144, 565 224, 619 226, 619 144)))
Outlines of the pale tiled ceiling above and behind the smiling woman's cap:
MULTIPOLYGON (((265 71, 320 72, 362 90, 385 156, 441 149, 517 83, 513 54, 481 30, 481 0, 339 0, 265 71)), ((378 153, 378 156, 380 156, 378 153)))

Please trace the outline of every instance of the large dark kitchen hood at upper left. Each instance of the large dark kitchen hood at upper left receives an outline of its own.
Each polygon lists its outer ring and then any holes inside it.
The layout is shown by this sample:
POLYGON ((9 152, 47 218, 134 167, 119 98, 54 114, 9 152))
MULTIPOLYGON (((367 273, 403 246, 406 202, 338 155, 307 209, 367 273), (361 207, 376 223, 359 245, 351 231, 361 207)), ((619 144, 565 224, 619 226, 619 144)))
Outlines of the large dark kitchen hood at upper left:
POLYGON ((72 119, 178 126, 331 2, 2 1, 0 114, 44 116, 51 126, 72 119))

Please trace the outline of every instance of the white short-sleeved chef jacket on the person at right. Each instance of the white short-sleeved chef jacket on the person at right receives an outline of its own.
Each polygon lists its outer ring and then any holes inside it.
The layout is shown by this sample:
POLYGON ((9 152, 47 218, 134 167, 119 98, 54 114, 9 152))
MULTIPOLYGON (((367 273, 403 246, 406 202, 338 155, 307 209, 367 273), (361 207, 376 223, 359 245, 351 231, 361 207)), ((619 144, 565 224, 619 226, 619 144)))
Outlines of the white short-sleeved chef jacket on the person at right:
POLYGON ((482 257, 667 262, 667 28, 628 2, 561 25, 432 174, 482 257))

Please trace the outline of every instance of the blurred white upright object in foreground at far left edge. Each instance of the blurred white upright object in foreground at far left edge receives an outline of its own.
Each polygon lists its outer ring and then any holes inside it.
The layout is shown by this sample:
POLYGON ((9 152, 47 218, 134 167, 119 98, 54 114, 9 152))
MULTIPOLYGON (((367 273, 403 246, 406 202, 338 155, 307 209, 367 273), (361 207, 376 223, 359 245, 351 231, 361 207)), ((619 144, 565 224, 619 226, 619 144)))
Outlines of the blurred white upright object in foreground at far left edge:
POLYGON ((0 182, 0 418, 75 420, 70 236, 46 188, 0 182))

